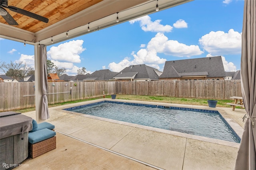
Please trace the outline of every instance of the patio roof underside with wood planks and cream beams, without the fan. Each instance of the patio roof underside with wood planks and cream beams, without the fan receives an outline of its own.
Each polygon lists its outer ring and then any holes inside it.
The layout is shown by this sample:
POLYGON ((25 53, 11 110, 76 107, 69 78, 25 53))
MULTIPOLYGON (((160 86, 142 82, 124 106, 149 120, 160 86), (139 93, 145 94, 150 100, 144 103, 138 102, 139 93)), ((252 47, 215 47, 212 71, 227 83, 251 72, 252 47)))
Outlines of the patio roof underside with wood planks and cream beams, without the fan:
MULTIPOLYGON (((5 2, 6 0, 0 0, 5 2)), ((192 0, 8 0, 14 6, 48 18, 48 23, 6 11, 18 25, 9 25, 0 16, 0 37, 30 43, 49 45, 104 29, 125 21, 190 2, 192 0), (119 22, 116 22, 116 17, 119 22), (90 23, 91 31, 87 31, 90 23), (66 37, 68 32, 68 37, 66 37)))

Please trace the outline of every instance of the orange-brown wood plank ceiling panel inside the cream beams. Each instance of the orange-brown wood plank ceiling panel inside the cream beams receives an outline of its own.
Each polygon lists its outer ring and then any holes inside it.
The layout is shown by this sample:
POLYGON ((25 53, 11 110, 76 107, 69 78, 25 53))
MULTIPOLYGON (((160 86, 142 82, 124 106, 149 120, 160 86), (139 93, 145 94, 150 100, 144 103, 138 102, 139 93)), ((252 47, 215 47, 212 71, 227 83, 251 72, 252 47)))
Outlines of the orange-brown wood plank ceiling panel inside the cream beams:
MULTIPOLYGON (((5 9, 19 24, 13 25, 14 27, 36 33, 101 1, 102 0, 8 0, 8 6, 15 6, 46 17, 49 19, 48 23, 13 12, 7 8, 5 9)), ((0 17, 0 22, 8 24, 2 17, 0 17)))

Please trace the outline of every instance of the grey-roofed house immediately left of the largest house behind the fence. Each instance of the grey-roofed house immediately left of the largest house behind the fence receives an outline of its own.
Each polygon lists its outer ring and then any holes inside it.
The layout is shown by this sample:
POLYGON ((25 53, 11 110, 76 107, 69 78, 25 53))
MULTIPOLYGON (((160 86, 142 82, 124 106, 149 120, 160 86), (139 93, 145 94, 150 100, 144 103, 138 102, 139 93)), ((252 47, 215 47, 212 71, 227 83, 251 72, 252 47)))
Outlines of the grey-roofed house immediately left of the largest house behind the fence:
POLYGON ((159 80, 158 77, 161 74, 162 72, 156 68, 138 64, 124 68, 113 79, 116 81, 151 81, 159 80))

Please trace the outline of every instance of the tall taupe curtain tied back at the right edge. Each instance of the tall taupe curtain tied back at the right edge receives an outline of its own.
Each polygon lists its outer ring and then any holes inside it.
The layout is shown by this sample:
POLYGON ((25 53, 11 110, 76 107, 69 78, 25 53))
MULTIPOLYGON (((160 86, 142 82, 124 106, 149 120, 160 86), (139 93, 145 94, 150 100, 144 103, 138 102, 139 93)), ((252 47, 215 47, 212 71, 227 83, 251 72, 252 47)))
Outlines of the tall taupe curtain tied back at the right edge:
POLYGON ((246 115, 235 170, 256 170, 256 1, 244 1, 241 85, 246 115))

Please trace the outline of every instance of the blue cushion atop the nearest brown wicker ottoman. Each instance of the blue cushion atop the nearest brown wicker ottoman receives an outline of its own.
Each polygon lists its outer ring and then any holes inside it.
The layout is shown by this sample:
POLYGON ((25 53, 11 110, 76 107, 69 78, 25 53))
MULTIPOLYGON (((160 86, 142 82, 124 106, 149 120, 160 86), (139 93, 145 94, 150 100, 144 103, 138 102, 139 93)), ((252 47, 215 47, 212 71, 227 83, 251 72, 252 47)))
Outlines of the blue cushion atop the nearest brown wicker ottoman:
POLYGON ((56 132, 50 129, 42 129, 39 131, 28 133, 28 142, 31 144, 38 143, 51 137, 54 137, 55 135, 56 132))

